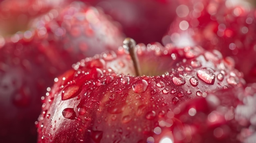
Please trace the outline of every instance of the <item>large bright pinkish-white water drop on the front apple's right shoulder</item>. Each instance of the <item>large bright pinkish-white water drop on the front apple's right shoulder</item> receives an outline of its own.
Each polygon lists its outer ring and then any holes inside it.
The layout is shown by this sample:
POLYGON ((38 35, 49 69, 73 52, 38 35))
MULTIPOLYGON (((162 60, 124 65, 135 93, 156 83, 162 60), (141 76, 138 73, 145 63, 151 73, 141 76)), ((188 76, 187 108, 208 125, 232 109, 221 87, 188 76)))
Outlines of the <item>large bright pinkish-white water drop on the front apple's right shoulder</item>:
POLYGON ((211 68, 201 68, 198 70, 197 75, 202 81, 207 84, 213 84, 215 80, 215 74, 211 68))

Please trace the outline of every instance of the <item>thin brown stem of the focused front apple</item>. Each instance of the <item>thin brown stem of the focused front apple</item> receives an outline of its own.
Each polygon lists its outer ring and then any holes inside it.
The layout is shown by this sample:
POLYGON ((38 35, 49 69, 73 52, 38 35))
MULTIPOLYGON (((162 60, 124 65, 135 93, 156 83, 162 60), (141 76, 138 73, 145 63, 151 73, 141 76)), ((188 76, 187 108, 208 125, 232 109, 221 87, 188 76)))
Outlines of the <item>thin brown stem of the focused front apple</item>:
POLYGON ((123 42, 123 47, 126 48, 132 58, 133 66, 135 68, 135 73, 137 76, 141 75, 141 71, 139 68, 139 60, 136 53, 136 42, 132 38, 126 38, 123 42))

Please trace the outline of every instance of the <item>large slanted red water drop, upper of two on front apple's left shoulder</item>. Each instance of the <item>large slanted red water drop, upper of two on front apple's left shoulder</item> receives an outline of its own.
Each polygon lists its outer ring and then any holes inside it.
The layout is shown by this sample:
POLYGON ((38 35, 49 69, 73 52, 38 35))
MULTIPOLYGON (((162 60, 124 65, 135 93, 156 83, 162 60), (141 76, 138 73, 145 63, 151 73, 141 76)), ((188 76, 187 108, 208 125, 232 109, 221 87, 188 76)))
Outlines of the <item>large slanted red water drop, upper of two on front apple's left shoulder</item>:
POLYGON ((66 86, 62 93, 61 93, 61 99, 67 100, 76 97, 81 92, 81 86, 78 84, 71 84, 66 86))

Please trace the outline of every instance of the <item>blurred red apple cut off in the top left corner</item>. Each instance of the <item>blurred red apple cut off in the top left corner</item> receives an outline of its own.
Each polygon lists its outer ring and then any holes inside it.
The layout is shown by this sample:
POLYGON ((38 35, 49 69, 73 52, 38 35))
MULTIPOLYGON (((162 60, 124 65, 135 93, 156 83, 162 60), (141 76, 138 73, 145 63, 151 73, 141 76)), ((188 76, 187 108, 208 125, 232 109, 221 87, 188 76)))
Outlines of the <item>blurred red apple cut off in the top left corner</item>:
POLYGON ((29 22, 65 0, 0 0, 0 35, 9 36, 29 29, 29 22))

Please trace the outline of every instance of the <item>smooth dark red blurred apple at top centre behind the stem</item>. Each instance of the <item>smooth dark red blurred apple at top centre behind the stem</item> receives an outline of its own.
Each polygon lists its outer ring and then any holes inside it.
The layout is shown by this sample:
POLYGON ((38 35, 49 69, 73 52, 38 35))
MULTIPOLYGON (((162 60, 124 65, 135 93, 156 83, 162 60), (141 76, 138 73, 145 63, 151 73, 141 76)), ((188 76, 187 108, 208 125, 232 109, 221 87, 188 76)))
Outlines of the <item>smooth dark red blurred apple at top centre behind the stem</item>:
POLYGON ((137 43, 162 42, 175 19, 177 0, 81 0, 100 7, 137 43))

